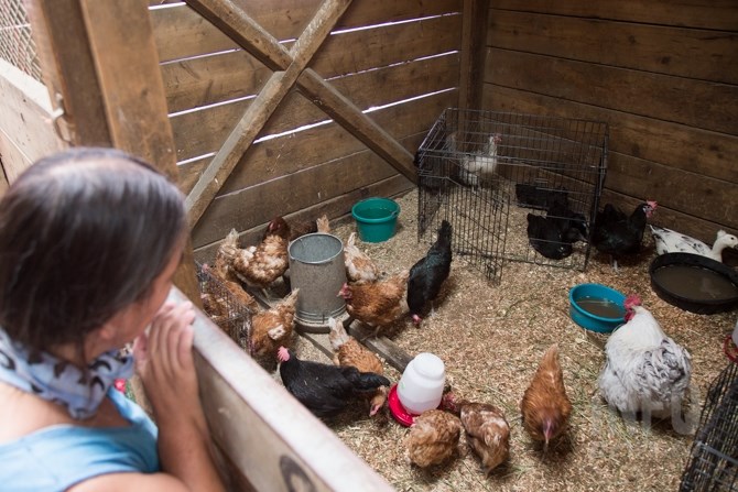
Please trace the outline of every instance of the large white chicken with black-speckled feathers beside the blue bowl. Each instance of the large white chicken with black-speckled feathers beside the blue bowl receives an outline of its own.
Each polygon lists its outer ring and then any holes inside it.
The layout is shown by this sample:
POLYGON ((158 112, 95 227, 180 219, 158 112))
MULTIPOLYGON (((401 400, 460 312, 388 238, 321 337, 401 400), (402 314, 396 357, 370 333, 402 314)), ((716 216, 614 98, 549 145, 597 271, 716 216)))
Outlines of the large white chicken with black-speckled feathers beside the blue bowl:
POLYGON ((628 296, 625 307, 626 324, 605 345, 601 396, 628 418, 681 412, 692 375, 690 352, 662 331, 638 296, 628 296))

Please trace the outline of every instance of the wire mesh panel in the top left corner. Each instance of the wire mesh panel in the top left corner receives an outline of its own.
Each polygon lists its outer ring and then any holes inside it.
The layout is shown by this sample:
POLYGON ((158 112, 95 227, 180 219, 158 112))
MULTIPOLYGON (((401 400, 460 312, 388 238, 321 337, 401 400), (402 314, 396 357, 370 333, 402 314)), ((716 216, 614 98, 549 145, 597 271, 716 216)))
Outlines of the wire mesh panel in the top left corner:
POLYGON ((22 0, 0 0, 0 58, 43 81, 22 0))

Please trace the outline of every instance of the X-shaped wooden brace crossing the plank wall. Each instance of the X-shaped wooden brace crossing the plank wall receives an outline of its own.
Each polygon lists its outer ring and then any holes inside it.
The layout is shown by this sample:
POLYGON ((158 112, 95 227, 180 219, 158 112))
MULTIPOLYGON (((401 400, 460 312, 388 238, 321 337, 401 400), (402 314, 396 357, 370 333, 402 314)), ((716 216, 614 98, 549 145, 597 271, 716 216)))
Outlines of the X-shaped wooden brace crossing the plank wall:
POLYGON ((312 68, 306 68, 351 0, 325 0, 291 50, 251 19, 235 0, 187 0, 187 4, 239 46, 274 70, 186 199, 194 227, 243 153, 293 86, 354 136, 413 183, 413 156, 312 68))

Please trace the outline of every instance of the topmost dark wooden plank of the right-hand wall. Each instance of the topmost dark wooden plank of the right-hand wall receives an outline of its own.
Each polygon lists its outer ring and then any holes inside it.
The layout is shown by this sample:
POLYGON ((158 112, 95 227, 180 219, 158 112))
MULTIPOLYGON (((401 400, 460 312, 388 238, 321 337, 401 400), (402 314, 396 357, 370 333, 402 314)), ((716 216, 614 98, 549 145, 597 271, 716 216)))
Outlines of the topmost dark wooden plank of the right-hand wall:
POLYGON ((492 0, 491 7, 500 10, 551 13, 577 18, 611 19, 647 24, 738 31, 738 6, 732 0, 621 0, 568 1, 550 0, 492 0))

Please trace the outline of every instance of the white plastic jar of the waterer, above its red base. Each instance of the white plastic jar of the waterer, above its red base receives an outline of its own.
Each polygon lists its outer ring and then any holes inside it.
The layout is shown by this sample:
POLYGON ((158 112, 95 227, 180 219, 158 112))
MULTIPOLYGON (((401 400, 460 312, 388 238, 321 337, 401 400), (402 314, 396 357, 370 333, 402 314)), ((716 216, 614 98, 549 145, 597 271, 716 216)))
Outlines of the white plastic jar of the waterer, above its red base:
POLYGON ((438 356, 422 352, 410 361, 400 382, 398 397, 411 414, 437 408, 446 383, 446 369, 438 356))

